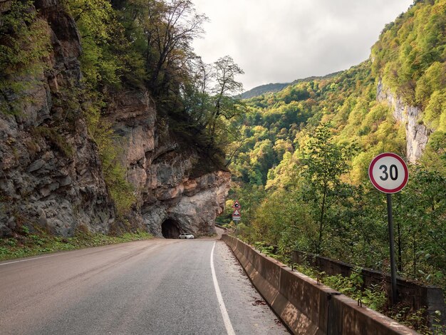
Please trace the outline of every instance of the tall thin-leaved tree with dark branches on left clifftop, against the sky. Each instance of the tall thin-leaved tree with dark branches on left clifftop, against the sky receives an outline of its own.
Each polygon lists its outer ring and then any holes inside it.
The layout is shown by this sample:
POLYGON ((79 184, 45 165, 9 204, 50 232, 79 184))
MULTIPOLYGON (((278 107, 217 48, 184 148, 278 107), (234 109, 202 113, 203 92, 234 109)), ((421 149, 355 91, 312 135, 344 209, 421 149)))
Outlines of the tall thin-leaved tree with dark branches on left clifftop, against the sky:
POLYGON ((123 11, 133 20, 128 33, 136 35, 144 54, 147 87, 160 101, 175 100, 190 76, 192 40, 203 33, 207 17, 190 0, 129 0, 123 11))

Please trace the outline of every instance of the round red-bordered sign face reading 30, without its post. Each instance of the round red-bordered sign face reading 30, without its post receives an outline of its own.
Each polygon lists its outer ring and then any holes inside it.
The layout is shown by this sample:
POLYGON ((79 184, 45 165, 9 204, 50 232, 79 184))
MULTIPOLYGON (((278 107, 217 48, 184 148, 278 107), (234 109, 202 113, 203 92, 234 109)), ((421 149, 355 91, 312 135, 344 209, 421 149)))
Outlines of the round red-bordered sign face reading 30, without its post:
POLYGON ((373 186, 381 192, 400 192, 408 183, 408 165, 395 153, 381 153, 370 163, 368 177, 373 186))

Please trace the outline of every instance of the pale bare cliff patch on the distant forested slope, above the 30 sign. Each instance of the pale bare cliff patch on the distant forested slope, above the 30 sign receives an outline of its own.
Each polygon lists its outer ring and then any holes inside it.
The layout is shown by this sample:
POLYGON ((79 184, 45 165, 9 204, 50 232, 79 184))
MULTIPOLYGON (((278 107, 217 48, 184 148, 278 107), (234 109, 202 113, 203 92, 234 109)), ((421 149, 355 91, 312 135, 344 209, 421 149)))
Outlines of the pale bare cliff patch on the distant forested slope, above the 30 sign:
POLYGON ((378 101, 387 102, 393 108, 395 120, 405 124, 406 158, 410 163, 415 163, 425 150, 430 135, 430 130, 425 125, 419 123, 420 108, 403 103, 389 88, 385 88, 381 81, 378 82, 376 98, 378 101))

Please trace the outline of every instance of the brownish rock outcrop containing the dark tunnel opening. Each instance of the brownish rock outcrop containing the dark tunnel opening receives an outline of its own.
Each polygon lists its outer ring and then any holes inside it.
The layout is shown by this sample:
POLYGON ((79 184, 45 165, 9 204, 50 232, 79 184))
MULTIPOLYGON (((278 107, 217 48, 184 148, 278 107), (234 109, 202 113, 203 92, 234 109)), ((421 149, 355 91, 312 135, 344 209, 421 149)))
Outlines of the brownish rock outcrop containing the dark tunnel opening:
POLYGON ((195 148, 176 140, 165 119, 144 91, 115 96, 109 120, 120 135, 128 180, 137 192, 133 219, 157 237, 180 232, 213 234, 214 220, 224 210, 229 172, 195 173, 204 160, 195 148))

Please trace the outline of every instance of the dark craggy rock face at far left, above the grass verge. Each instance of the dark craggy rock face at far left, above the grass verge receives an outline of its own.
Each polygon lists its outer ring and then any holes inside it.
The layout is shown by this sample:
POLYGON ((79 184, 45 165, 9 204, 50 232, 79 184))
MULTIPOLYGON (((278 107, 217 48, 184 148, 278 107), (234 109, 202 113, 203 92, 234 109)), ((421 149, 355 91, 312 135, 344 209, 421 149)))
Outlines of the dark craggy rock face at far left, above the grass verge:
POLYGON ((48 22, 50 70, 25 92, 29 99, 21 113, 0 113, 0 236, 18 225, 39 225, 62 235, 73 234, 79 225, 106 232, 113 204, 85 123, 76 120, 75 131, 63 135, 51 128, 59 113, 54 105, 58 89, 76 85, 81 77, 76 25, 55 1, 36 1, 36 9, 48 22))

